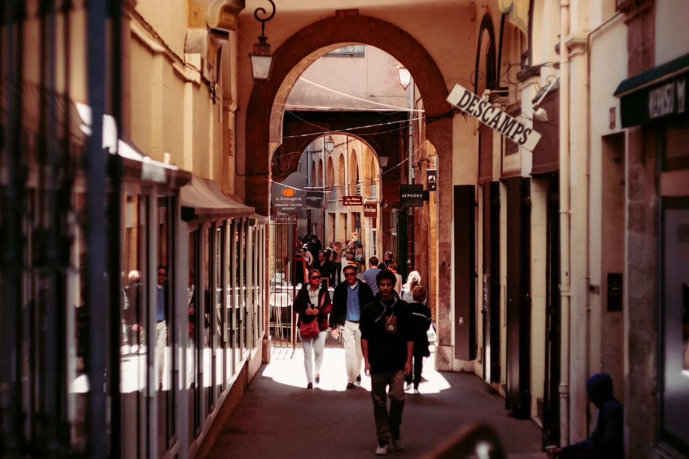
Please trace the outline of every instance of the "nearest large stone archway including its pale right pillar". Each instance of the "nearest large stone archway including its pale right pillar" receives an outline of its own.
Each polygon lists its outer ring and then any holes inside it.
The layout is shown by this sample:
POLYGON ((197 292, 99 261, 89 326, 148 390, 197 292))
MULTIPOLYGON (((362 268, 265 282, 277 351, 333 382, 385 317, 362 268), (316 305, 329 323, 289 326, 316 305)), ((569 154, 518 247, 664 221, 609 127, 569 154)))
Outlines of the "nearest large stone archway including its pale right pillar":
MULTIPOLYGON (((339 10, 333 17, 321 19, 298 30, 274 52, 270 79, 254 84, 247 104, 245 121, 245 152, 254 161, 247 161, 245 187, 247 205, 259 214, 270 209, 270 162, 275 149, 282 143, 282 118, 287 96, 298 77, 316 59, 343 43, 375 46, 404 65, 424 99, 426 139, 433 144, 443 173, 438 174, 438 285, 452 285, 452 132, 453 111, 447 103, 448 91, 438 65, 411 34, 392 23, 375 17, 361 16, 358 10, 339 10), (449 166, 449 167, 448 167, 449 166)), ((447 349, 439 367, 451 361, 451 289, 437 289, 438 343, 447 349), (445 355, 447 354, 447 355, 445 355)), ((266 319, 267 320, 267 319, 266 319)), ((267 349, 267 339, 264 340, 267 349)), ((269 353, 264 349, 264 356, 269 353)))

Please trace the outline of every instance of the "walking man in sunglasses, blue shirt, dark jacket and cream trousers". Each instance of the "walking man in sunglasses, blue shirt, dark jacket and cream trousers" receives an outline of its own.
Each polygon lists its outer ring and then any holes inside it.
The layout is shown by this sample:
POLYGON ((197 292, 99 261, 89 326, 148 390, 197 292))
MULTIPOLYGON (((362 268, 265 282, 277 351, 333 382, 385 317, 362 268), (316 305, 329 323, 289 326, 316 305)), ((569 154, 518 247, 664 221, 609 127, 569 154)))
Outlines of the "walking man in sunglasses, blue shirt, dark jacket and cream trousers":
POLYGON ((361 385, 361 332, 359 320, 364 305, 373 300, 371 287, 356 278, 356 268, 347 266, 343 270, 345 282, 340 283, 333 292, 333 311, 330 326, 333 338, 342 332, 345 345, 345 368, 347 369, 347 389, 361 385))

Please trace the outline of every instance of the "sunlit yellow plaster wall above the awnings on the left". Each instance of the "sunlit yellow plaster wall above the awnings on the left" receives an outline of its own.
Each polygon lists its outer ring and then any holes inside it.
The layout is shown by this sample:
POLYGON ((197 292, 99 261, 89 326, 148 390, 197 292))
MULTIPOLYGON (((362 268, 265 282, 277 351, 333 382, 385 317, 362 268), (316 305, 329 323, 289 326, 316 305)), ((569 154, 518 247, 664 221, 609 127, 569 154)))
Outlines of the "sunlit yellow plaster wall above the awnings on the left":
MULTIPOLYGON (((184 53, 185 8, 186 2, 178 0, 169 8, 153 8, 149 0, 138 3, 141 19, 132 16, 125 45, 131 61, 125 74, 125 88, 131 94, 125 119, 130 121, 132 141, 144 154, 163 161, 163 154, 169 153, 172 164, 218 181, 225 192, 234 194, 234 183, 224 178, 230 170, 225 158, 234 145, 229 129, 234 114, 228 111, 223 117, 223 81, 229 86, 227 94, 232 94, 232 59, 221 60, 229 79, 218 80, 214 104, 200 79, 200 55, 184 53), (151 34, 146 23, 160 37, 151 34)), ((227 51, 221 52, 231 57, 231 43, 225 46, 227 51)))

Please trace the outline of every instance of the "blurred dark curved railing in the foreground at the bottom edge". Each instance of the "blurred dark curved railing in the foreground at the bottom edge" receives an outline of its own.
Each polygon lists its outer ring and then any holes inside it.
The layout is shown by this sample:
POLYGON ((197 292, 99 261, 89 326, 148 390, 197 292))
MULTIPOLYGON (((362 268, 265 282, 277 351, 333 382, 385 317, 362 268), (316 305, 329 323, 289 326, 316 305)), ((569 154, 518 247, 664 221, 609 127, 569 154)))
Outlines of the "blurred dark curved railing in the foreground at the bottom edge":
POLYGON ((507 458, 493 427, 478 423, 466 425, 424 455, 423 459, 462 459, 472 456, 477 459, 507 458))

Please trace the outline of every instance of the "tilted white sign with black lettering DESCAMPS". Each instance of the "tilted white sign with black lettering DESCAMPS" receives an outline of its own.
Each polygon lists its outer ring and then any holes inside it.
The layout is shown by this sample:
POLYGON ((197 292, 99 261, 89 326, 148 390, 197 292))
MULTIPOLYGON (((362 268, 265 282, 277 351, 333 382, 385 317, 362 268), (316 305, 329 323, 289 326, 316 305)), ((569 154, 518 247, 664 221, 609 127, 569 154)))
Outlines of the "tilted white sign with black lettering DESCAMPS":
POLYGON ((533 151, 541 140, 541 134, 528 128, 524 123, 520 123, 492 103, 484 101, 462 85, 455 85, 447 96, 447 101, 526 150, 533 151))

